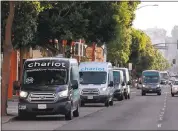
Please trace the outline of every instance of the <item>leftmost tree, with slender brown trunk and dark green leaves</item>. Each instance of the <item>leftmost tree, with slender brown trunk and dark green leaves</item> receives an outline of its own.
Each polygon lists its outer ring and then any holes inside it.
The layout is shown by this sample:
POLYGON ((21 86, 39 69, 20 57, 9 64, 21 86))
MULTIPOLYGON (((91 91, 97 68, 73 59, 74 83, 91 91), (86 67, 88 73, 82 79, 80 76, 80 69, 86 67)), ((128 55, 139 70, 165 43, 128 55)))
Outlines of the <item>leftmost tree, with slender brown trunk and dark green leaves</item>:
POLYGON ((2 115, 6 115, 7 90, 10 75, 10 57, 13 49, 30 46, 34 33, 37 30, 37 18, 40 11, 49 8, 49 3, 38 1, 3 1, 2 4, 2 115), (12 41, 11 36, 14 34, 12 41))

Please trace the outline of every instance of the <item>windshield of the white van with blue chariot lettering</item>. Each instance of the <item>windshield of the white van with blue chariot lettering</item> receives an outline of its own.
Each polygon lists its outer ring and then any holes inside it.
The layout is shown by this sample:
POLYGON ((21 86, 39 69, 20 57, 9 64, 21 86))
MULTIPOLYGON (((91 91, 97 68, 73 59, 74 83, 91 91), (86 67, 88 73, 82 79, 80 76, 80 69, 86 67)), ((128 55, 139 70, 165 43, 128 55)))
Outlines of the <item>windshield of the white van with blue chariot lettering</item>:
POLYGON ((80 72, 80 84, 105 84, 106 72, 80 72))

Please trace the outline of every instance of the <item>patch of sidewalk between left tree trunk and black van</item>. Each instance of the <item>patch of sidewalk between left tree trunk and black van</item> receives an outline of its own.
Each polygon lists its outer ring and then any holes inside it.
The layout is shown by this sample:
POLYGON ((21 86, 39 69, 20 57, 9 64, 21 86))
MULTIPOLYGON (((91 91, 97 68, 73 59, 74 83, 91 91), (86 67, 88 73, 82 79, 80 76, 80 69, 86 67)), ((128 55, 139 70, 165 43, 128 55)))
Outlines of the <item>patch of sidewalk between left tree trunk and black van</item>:
POLYGON ((8 100, 7 105, 8 105, 8 107, 7 107, 7 114, 8 115, 3 116, 1 118, 2 124, 10 122, 11 120, 13 120, 13 118, 17 117, 17 114, 18 114, 18 100, 17 99, 8 100))

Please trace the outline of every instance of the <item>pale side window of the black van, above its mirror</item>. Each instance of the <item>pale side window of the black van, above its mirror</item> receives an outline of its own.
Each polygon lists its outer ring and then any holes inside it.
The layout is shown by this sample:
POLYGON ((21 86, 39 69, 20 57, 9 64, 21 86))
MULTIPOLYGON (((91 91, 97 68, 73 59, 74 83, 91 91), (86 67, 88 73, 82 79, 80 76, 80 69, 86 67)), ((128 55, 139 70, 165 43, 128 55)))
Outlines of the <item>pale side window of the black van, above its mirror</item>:
POLYGON ((79 80, 78 66, 72 66, 70 71, 70 80, 79 80))

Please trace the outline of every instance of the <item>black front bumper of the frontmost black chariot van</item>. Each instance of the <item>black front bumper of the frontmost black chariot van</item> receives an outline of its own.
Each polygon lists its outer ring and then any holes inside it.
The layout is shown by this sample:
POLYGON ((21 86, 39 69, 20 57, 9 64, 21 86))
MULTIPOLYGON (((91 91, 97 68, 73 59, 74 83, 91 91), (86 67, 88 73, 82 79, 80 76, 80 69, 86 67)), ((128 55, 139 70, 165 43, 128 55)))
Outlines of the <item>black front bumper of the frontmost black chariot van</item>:
POLYGON ((71 102, 63 101, 57 103, 29 103, 19 102, 18 111, 21 113, 31 113, 35 115, 65 115, 71 110, 71 102), (46 105, 45 109, 39 109, 38 106, 46 105))

